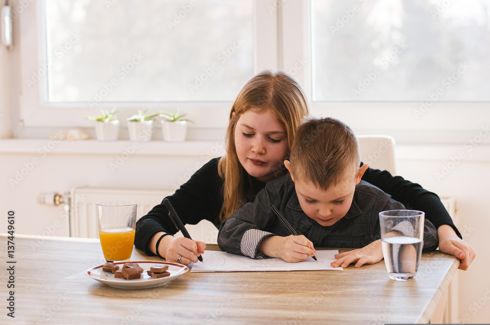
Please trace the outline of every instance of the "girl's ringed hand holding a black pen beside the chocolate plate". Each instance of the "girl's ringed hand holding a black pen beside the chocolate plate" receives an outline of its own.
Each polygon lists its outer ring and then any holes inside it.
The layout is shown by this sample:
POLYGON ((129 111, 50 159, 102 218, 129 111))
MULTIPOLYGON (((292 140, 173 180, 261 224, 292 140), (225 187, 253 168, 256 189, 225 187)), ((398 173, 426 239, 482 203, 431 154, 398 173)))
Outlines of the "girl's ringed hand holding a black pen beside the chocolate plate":
POLYGON ((197 262, 197 257, 204 253, 205 248, 206 244, 202 241, 165 236, 158 245, 158 252, 168 262, 177 262, 180 257, 177 263, 188 265, 197 262))

